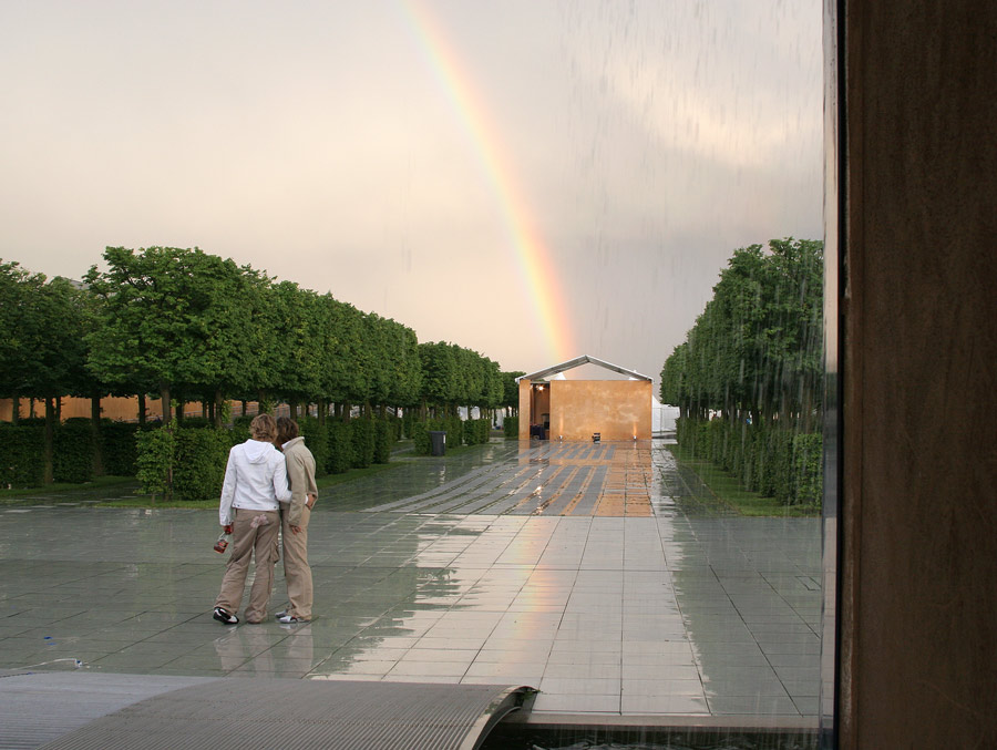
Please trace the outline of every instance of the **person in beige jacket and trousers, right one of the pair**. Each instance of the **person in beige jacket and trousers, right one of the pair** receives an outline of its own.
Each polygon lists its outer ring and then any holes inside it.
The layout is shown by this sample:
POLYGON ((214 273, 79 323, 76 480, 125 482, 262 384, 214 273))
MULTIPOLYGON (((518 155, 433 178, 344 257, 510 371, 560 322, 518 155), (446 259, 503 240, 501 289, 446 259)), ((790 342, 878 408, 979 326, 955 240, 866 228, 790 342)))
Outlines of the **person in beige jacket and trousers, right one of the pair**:
POLYGON ((287 462, 290 502, 280 503, 281 536, 284 538, 284 578, 287 583, 287 609, 277 613, 284 625, 311 619, 311 568, 308 566, 308 521, 318 500, 315 484, 315 456, 298 436, 298 423, 288 417, 277 420, 277 442, 287 462))

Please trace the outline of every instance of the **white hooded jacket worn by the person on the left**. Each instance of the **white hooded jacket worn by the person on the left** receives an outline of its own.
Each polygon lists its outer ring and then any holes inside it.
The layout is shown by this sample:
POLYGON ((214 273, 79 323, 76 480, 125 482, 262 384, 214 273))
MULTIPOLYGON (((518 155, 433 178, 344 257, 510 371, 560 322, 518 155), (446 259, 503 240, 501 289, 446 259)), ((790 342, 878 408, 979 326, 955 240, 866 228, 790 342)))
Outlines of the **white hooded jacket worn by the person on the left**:
POLYGON ((278 501, 287 502, 290 497, 284 455, 273 443, 247 440, 233 445, 228 452, 222 506, 218 510, 223 526, 232 523, 234 507, 276 511, 278 501))

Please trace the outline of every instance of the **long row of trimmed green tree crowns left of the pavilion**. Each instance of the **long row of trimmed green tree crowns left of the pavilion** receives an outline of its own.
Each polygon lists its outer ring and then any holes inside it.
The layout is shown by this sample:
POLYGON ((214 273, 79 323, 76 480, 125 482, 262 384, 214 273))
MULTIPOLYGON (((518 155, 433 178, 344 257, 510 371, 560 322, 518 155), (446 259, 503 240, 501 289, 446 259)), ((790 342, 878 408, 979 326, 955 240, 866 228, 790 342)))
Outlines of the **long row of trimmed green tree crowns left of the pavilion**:
MULTIPOLYGON (((107 248, 105 270, 82 282, 47 279, 0 260, 0 398, 146 394, 164 404, 202 401, 220 424, 224 403, 281 401, 292 413, 318 404, 320 419, 419 409, 454 413, 515 407, 513 378, 476 351, 419 343, 415 332, 374 312, 276 281, 201 249, 107 248)), ((172 410, 164 410, 169 421, 172 410)))

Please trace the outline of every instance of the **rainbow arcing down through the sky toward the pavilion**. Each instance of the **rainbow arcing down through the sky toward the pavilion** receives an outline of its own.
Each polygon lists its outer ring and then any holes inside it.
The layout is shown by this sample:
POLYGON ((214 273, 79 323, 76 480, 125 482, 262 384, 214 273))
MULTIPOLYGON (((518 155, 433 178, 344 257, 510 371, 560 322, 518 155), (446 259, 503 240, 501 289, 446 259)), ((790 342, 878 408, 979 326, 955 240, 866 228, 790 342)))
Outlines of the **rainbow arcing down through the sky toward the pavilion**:
POLYGON ((466 129, 481 160, 482 171, 495 194, 512 240, 511 251, 515 254, 526 294, 536 308, 552 363, 572 359, 578 352, 568 326, 571 308, 565 304, 551 254, 531 219, 530 208, 507 166, 512 160, 502 157, 502 137, 491 125, 487 107, 429 10, 415 0, 404 0, 402 7, 418 45, 466 129))

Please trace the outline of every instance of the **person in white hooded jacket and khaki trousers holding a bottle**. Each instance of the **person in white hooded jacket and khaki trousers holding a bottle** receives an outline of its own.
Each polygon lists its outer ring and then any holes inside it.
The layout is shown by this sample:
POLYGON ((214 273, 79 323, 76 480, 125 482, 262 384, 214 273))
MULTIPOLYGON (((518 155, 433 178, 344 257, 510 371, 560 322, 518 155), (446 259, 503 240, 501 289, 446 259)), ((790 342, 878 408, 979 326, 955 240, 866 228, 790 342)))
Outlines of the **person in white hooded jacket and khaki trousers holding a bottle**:
POLYGON ((212 617, 225 625, 239 621, 236 613, 243 602, 249 558, 254 555, 256 575, 249 589, 246 621, 261 623, 267 616, 278 557, 278 503, 291 499, 284 455, 274 446, 277 422, 270 414, 259 414, 249 424, 249 440, 234 445, 228 453, 218 510, 222 526, 232 534, 232 556, 212 617))

